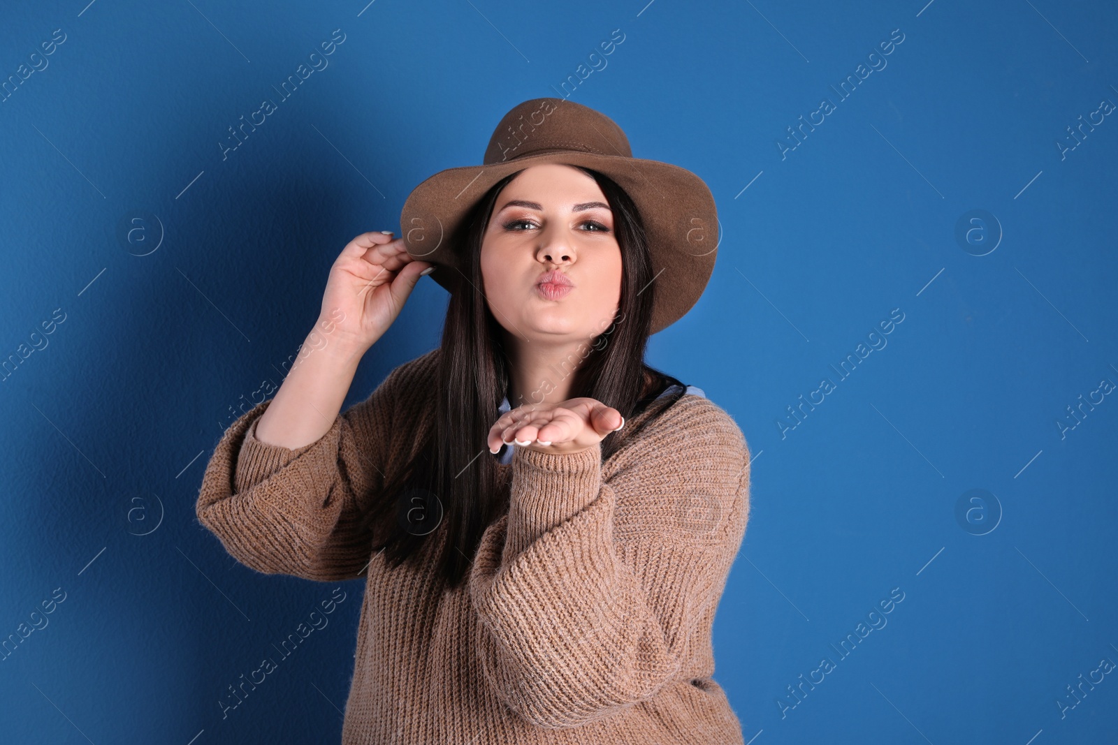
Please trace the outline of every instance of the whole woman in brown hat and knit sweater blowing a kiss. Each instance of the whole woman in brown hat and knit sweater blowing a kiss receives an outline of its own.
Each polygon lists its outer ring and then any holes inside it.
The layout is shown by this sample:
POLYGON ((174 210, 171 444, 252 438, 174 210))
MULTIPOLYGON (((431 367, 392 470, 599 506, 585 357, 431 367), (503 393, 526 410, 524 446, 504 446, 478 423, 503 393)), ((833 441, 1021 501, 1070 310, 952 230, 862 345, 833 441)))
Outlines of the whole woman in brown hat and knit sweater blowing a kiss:
POLYGON ((342 251, 322 334, 226 431, 197 505, 257 571, 366 576, 343 742, 741 743, 710 633, 749 452, 643 362, 710 276, 709 190, 598 112, 533 99, 401 223, 342 251), (432 271, 440 346, 340 413, 432 271))

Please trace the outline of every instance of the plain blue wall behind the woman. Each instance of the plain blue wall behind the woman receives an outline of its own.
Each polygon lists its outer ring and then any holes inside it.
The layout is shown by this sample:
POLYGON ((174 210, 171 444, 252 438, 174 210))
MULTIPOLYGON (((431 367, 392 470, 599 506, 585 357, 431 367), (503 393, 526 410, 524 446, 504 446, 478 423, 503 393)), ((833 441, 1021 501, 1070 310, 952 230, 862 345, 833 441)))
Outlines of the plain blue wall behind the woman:
MULTIPOLYGON (((648 361, 755 458, 714 627, 746 739, 1112 738, 1112 3, 311 4, 6 3, 0 355, 27 357, 0 381, 0 637, 48 622, 0 662, 7 742, 338 739, 360 581, 222 720, 333 588, 237 564, 195 520, 201 474, 345 242, 551 95, 719 206, 709 288, 648 361)), ((438 343, 445 305, 420 284, 347 407, 438 343)))

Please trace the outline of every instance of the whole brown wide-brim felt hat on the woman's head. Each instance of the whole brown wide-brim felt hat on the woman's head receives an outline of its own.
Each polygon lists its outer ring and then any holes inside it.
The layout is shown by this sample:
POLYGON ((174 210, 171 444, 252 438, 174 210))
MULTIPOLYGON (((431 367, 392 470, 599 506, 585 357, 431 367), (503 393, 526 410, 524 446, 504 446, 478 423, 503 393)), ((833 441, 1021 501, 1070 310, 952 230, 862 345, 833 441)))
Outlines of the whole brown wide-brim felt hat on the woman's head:
POLYGON ((710 189, 686 169, 633 157, 613 120, 566 98, 514 106, 493 131, 482 165, 446 169, 416 187, 400 213, 408 254, 434 264, 430 277, 453 293, 465 276, 454 239, 463 218, 494 183, 540 163, 593 169, 625 190, 641 214, 652 256, 651 333, 683 317, 714 270, 721 230, 710 189))

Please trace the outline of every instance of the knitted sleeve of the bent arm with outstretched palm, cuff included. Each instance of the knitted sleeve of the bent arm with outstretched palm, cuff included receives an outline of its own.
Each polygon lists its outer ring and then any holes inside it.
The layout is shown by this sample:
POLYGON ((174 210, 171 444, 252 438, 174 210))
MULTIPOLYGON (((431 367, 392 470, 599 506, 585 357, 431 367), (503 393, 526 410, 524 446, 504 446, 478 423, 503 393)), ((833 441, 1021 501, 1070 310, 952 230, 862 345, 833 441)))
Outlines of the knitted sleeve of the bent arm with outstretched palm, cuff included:
POLYGON ((693 672, 749 513, 740 429, 695 409, 606 483, 600 445, 514 451, 509 513, 482 536, 470 592, 484 678, 536 726, 610 716, 693 672))

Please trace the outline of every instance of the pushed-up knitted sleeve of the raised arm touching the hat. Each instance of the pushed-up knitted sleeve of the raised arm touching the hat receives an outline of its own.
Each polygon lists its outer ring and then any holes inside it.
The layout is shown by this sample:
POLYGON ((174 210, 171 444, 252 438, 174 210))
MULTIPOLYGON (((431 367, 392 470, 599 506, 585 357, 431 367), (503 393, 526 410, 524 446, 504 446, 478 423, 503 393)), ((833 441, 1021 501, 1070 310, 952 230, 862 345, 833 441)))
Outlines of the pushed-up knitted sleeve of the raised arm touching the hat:
POLYGON ((264 401, 229 426, 210 457, 198 520, 225 550, 265 574, 330 582, 368 565, 371 533, 361 517, 383 485, 392 411, 404 369, 338 414, 311 445, 290 449, 256 439, 264 401))

